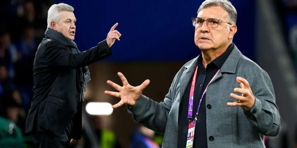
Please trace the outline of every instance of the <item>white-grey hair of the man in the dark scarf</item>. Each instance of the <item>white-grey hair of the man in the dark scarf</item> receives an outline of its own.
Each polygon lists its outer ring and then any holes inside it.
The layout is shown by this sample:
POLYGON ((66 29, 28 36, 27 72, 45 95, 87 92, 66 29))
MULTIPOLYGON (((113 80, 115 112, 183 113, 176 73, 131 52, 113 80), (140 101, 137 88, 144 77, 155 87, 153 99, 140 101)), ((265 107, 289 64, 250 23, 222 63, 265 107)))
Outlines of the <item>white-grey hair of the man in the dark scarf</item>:
POLYGON ((58 22, 61 19, 61 11, 73 12, 74 8, 64 3, 53 4, 50 9, 48 9, 48 28, 50 28, 51 21, 58 22))

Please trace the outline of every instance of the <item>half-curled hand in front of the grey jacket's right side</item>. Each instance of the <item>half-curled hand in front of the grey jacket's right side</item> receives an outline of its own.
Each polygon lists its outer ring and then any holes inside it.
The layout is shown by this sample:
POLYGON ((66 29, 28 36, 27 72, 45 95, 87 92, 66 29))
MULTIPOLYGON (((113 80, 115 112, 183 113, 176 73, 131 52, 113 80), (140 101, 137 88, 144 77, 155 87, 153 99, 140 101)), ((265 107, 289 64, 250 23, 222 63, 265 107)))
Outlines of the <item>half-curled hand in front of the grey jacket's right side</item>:
POLYGON ((237 99, 239 101, 237 102, 228 102, 228 106, 241 106, 244 110, 247 110, 249 108, 252 108, 255 104, 255 97, 252 93, 252 89, 249 87, 249 82, 241 77, 237 77, 236 81, 240 85, 241 88, 235 88, 234 92, 238 92, 242 94, 241 96, 238 96, 237 94, 231 93, 230 96, 234 99, 237 99))

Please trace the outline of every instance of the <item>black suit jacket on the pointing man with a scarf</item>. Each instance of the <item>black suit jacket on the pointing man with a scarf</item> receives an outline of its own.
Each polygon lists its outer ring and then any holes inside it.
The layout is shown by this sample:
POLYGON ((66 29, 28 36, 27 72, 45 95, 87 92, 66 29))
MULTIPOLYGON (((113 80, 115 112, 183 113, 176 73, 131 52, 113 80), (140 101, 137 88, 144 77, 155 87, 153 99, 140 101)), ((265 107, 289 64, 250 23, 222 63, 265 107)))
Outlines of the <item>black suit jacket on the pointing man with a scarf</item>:
POLYGON ((33 64, 34 96, 26 121, 26 133, 62 134, 72 121, 72 139, 80 139, 82 102, 79 102, 76 70, 112 55, 106 40, 73 54, 63 41, 44 38, 33 64))

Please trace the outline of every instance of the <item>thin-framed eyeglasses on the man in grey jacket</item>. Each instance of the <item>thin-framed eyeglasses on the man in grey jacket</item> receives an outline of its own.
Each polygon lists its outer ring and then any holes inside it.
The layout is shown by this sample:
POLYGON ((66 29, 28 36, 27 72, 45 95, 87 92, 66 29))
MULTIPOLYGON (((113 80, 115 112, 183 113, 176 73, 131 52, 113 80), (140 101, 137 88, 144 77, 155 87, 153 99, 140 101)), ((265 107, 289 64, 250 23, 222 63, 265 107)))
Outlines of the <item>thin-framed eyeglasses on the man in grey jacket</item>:
MULTIPOLYGON (((199 18, 199 17, 192 17, 191 19, 194 27, 201 27, 203 25, 203 22, 206 21, 206 25, 209 28, 217 28, 219 25, 219 21, 222 21, 221 19, 217 19, 217 18, 209 18, 207 20, 203 20, 202 18, 199 18)), ((230 24, 228 22, 225 22, 225 23, 230 24)))

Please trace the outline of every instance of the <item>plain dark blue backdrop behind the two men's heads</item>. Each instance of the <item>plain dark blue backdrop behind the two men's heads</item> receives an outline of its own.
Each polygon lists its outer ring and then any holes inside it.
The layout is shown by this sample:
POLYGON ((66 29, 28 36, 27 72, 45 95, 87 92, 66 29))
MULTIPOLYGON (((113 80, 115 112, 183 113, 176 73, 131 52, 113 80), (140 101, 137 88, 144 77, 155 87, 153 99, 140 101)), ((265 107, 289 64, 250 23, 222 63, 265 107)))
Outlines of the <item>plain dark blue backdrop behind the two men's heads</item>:
MULTIPOLYGON (((122 34, 106 61, 187 61, 200 50, 194 44, 191 17, 203 0, 57 0, 75 8, 75 43, 81 51, 96 46, 110 28, 122 34)), ((253 59, 255 49, 255 0, 230 0, 238 12, 233 43, 253 59)))

